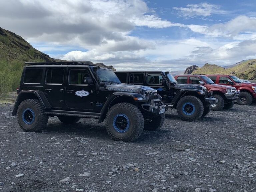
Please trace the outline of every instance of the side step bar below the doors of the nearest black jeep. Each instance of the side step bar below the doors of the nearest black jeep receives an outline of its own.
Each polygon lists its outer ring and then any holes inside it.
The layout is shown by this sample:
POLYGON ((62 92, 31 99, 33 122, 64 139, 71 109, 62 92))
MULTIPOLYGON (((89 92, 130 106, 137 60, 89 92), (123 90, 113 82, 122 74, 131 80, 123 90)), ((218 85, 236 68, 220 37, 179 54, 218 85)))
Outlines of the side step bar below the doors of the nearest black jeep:
POLYGON ((78 111, 63 111, 63 110, 50 110, 46 111, 47 115, 64 115, 64 116, 73 116, 73 117, 82 117, 82 118, 95 118, 99 119, 101 113, 91 113, 91 112, 78 112, 78 111))

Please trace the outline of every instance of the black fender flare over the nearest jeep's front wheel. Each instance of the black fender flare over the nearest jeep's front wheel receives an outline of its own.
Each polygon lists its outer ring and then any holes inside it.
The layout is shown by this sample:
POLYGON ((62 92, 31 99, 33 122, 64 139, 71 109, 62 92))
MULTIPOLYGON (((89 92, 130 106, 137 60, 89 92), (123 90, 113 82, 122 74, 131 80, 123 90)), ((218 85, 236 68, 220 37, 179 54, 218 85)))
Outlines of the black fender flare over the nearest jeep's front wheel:
MULTIPOLYGON (((143 97, 143 96, 138 93, 128 93, 128 92, 115 92, 113 94, 108 95, 107 101, 105 102, 105 104, 103 105, 103 107, 101 109, 101 112, 100 112, 101 116, 100 116, 98 123, 101 123, 104 121, 106 114, 109 110, 109 106, 111 106, 111 104, 115 101, 115 99, 117 99, 119 97, 129 97, 129 98, 133 99, 133 97, 143 97)), ((136 102, 136 101, 134 101, 134 102, 136 102)))

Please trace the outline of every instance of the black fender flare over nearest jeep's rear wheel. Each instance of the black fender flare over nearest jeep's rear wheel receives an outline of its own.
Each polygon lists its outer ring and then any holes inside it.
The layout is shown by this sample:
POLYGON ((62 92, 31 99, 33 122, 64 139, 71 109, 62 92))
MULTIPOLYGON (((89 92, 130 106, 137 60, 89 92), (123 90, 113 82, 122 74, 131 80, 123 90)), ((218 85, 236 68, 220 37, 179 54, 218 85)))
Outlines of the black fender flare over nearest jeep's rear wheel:
POLYGON ((42 91, 38 91, 38 90, 22 90, 19 92, 17 99, 15 101, 14 104, 14 109, 12 111, 12 115, 15 116, 17 114, 17 109, 20 105, 20 103, 26 99, 31 99, 29 98, 29 96, 26 95, 33 95, 36 96, 39 100, 39 102, 42 104, 43 109, 51 109, 51 106, 48 102, 48 100, 46 99, 44 93, 42 91))

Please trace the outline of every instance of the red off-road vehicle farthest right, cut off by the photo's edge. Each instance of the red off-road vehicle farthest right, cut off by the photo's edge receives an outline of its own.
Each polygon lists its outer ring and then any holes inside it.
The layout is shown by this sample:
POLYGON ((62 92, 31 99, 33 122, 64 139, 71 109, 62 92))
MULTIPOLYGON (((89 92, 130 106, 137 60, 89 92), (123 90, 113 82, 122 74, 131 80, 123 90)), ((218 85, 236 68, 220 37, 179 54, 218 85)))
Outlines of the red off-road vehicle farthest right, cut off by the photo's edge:
POLYGON ((252 101, 256 99, 256 84, 243 83, 238 77, 234 75, 206 75, 213 82, 220 85, 233 86, 240 90, 237 103, 239 105, 251 105, 252 101))

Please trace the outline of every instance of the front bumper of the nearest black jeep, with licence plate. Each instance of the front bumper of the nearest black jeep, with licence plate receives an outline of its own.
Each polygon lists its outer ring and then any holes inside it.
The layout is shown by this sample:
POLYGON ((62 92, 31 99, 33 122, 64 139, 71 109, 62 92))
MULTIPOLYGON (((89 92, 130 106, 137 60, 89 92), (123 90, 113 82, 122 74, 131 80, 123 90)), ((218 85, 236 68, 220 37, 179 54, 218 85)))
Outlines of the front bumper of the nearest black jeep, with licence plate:
POLYGON ((141 104, 142 109, 145 111, 158 115, 162 109, 168 110, 168 105, 163 104, 160 99, 152 99, 151 103, 141 104))

